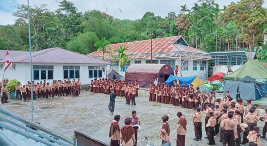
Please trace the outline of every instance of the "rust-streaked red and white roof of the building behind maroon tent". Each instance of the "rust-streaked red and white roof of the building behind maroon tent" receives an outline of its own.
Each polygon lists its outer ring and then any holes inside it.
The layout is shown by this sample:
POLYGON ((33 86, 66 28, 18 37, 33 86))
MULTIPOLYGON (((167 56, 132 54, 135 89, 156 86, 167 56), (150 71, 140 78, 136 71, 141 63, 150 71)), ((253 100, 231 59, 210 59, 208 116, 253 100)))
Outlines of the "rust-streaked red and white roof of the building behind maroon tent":
MULTIPOLYGON (((184 39, 181 35, 152 39, 152 58, 180 57, 181 55, 181 57, 211 59, 210 54, 207 52, 195 49, 193 47, 189 47, 187 45, 176 44, 175 42, 181 38, 184 39)), ((115 49, 119 48, 120 45, 126 46, 128 48, 125 53, 129 55, 130 59, 150 58, 150 39, 143 41, 111 44, 111 50, 109 51, 112 53, 112 55, 117 55, 115 49)), ((103 53, 101 51, 95 51, 88 54, 88 56, 92 56, 99 59, 102 57, 102 55, 103 53)), ((105 60, 112 60, 110 54, 105 53, 104 56, 105 60)))

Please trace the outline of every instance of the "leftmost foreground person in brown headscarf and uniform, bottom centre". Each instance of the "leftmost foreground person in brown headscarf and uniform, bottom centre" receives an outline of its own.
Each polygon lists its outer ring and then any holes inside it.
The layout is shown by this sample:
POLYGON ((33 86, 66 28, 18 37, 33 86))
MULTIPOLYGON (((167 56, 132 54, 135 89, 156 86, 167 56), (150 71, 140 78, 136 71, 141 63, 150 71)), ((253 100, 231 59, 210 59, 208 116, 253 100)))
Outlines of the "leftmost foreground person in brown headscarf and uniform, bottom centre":
POLYGON ((120 129, 119 122, 120 115, 115 115, 109 129, 110 146, 119 146, 120 144, 120 129))

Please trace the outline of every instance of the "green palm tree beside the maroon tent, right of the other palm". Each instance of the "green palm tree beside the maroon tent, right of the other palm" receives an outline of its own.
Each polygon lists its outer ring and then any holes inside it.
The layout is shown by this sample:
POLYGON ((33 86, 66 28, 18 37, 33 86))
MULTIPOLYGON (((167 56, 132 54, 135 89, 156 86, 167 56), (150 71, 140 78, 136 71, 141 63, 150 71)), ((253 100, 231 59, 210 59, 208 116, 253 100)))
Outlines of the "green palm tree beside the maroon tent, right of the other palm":
POLYGON ((125 63, 128 63, 130 61, 128 54, 125 54, 124 52, 125 50, 127 50, 127 47, 120 45, 119 48, 115 50, 115 52, 116 51, 118 52, 117 57, 113 58, 113 63, 116 63, 117 60, 119 62, 121 69, 121 76, 122 76, 122 67, 124 66, 125 63))

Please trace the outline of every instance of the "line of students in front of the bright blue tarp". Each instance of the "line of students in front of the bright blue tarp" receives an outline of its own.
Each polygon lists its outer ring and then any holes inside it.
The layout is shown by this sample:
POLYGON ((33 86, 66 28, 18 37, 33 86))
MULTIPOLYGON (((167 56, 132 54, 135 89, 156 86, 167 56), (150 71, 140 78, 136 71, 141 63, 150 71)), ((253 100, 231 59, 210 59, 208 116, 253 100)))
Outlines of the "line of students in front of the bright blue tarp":
POLYGON ((200 105, 204 108, 204 105, 207 103, 214 106, 216 98, 214 89, 212 89, 209 94, 202 91, 201 95, 200 88, 197 87, 195 91, 192 84, 187 88, 185 85, 170 86, 169 84, 158 83, 158 85, 155 85, 154 83, 151 83, 149 92, 149 101, 172 104, 174 106, 181 105, 183 108, 195 110, 200 105))

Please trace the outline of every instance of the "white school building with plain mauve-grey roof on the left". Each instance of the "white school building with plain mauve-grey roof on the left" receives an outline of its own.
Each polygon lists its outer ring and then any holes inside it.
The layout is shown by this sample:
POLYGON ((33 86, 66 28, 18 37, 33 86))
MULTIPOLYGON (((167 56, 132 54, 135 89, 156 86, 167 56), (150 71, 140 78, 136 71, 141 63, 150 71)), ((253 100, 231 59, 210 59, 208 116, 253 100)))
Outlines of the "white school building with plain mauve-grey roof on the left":
MULTIPOLYGON (((25 84, 31 81, 30 52, 8 51, 12 61, 12 69, 5 71, 4 78, 17 79, 25 84)), ((0 77, 4 71, 6 50, 0 50, 0 77)), ((66 49, 51 48, 32 52, 33 81, 80 79, 82 85, 90 84, 94 78, 106 78, 107 65, 110 62, 102 61, 66 49)))

